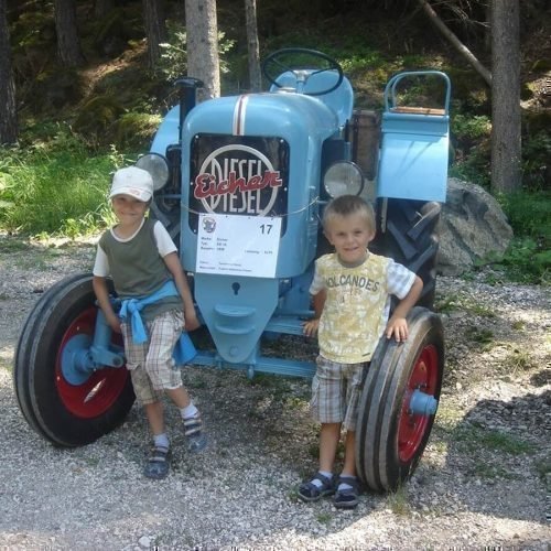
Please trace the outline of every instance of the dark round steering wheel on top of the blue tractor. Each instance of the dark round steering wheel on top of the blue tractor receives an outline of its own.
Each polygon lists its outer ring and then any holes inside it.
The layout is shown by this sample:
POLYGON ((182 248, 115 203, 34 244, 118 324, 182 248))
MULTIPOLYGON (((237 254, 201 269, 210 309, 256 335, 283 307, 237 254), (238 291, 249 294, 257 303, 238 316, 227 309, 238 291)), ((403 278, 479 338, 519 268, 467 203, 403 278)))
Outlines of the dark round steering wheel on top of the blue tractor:
POLYGON ((284 47, 282 50, 277 50, 262 63, 262 74, 270 84, 273 84, 278 88, 283 88, 283 85, 277 82, 277 76, 287 72, 292 73, 295 77, 295 91, 306 96, 323 96, 324 94, 328 94, 338 88, 344 78, 343 67, 341 67, 337 61, 322 52, 307 47, 284 47), (311 68, 306 68, 310 67, 307 64, 301 63, 301 65, 298 65, 296 63, 292 63, 293 57, 298 57, 301 61, 303 57, 306 60, 310 57, 314 61, 315 66, 321 66, 323 62, 325 62, 326 66, 312 71, 311 68), (278 73, 276 73, 276 71, 278 73), (304 91, 304 87, 310 77, 329 71, 336 72, 336 82, 334 85, 317 91, 304 91))

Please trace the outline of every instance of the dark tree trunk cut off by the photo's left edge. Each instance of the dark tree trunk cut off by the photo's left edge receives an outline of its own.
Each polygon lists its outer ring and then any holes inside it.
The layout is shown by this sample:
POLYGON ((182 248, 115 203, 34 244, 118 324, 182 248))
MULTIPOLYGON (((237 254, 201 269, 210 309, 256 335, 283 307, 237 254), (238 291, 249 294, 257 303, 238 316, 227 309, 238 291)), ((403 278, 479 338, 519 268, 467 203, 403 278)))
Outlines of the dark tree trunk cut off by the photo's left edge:
POLYGON ((15 84, 11 71, 7 0, 0 0, 0 145, 18 140, 15 84))

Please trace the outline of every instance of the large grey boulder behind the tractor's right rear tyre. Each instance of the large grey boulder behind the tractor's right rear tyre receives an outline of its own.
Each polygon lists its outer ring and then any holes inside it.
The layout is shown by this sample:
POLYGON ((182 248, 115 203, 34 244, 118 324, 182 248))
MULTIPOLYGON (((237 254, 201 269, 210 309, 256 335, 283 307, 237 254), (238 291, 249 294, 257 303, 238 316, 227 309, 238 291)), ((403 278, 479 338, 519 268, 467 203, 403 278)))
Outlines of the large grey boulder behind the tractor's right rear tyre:
POLYGON ((498 202, 476 184, 449 179, 439 223, 439 273, 457 276, 507 249, 512 229, 498 202))

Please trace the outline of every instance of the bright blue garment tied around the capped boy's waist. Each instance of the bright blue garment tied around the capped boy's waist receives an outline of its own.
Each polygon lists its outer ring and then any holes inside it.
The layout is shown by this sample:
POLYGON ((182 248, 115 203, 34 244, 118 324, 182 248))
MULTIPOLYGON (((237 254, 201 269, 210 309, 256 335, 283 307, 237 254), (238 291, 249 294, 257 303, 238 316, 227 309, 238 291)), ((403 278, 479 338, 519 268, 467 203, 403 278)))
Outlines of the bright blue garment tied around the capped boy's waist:
MULTIPOLYGON (((127 299, 122 301, 120 306, 119 316, 122 321, 130 318, 130 326, 132 328, 132 341, 136 344, 142 344, 148 341, 148 333, 145 332, 145 326, 143 325, 143 320, 141 318, 140 312, 148 305, 154 302, 165 299, 166 296, 179 296, 176 285, 173 280, 166 281, 163 287, 158 289, 154 293, 140 299, 127 299)), ((191 361, 197 350, 190 338, 187 333, 182 332, 180 339, 177 341, 172 357, 176 365, 183 365, 191 361)))

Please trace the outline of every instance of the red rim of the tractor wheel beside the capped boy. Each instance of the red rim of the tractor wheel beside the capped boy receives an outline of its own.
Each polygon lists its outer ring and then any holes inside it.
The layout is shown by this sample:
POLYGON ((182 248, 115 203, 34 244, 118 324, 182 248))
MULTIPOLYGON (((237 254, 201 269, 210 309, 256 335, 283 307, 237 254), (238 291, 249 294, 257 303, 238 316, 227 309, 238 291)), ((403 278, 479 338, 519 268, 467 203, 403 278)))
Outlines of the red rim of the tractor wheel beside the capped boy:
MULTIPOLYGON (((61 357, 67 342, 75 335, 94 336, 97 310, 89 307, 80 313, 63 335, 55 361, 55 383, 65 408, 76 417, 91 419, 108 411, 118 400, 127 383, 128 371, 105 368, 95 371, 83 385, 69 385, 63 377, 61 357)), ((118 338, 120 344, 120 337, 118 338)))

